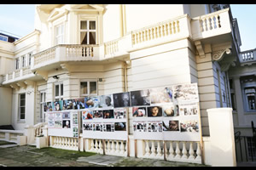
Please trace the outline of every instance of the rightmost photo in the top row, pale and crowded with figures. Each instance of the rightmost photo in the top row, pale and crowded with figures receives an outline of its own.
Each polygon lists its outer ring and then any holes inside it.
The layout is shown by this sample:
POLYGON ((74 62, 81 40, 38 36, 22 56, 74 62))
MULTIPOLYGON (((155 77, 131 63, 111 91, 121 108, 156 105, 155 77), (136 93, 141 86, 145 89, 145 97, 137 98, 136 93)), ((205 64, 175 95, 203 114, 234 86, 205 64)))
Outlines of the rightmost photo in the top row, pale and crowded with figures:
POLYGON ((199 102, 197 83, 173 86, 173 98, 177 101, 199 102))

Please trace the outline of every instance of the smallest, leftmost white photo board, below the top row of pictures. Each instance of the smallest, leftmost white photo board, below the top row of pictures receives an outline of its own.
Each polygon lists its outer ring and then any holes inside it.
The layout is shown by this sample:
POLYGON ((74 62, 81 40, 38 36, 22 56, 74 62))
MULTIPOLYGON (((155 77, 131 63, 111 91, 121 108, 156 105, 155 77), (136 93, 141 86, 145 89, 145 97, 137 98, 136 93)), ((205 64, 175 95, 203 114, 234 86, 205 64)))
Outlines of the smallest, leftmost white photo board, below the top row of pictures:
POLYGON ((78 111, 47 112, 49 136, 79 138, 78 111))

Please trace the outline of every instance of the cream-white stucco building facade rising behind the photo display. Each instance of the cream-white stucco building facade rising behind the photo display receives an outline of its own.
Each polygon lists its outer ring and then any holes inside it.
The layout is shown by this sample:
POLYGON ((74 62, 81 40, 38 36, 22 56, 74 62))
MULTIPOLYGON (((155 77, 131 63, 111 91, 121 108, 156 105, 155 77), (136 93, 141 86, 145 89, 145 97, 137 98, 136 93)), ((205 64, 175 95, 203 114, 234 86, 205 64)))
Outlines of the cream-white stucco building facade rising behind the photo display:
MULTIPOLYGON (((0 42, 0 125, 45 122, 44 102, 196 82, 202 135, 211 136, 207 109, 232 107, 230 79, 236 88, 241 71, 254 75, 253 65, 237 69, 240 46, 226 4, 39 4, 35 31, 0 42)), ((253 99, 238 96, 255 89, 235 91, 234 125, 249 127, 255 116, 241 101, 253 99)))

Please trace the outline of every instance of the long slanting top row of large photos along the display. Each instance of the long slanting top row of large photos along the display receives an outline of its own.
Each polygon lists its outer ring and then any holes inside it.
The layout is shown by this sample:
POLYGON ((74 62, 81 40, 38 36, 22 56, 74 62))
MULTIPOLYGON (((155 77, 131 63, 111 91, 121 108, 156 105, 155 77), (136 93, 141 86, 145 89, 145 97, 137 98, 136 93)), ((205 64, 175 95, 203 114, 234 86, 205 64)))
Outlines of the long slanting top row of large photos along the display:
POLYGON ((82 110, 90 108, 123 108, 153 106, 168 103, 199 102, 197 83, 151 88, 119 94, 90 96, 44 103, 44 111, 82 110))

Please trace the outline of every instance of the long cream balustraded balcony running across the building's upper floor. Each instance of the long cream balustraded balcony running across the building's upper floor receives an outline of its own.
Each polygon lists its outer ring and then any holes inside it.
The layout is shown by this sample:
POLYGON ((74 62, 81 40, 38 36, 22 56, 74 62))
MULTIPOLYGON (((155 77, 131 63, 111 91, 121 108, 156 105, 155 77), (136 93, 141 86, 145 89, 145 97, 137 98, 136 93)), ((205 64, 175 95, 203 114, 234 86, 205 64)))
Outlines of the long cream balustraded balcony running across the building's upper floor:
POLYGON ((175 42, 185 38, 194 41, 210 39, 210 41, 215 43, 220 41, 227 42, 232 38, 230 36, 231 24, 229 8, 225 8, 193 19, 190 19, 188 14, 183 14, 171 20, 131 31, 125 37, 98 45, 56 45, 32 55, 32 65, 30 68, 23 68, 6 74, 3 77, 3 84, 17 82, 28 77, 35 79, 36 76, 32 72, 39 70, 49 71, 60 67, 62 63, 66 62, 125 60, 132 51, 154 47, 167 42, 175 42))

